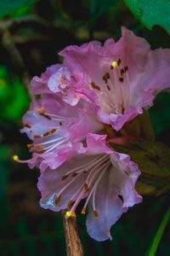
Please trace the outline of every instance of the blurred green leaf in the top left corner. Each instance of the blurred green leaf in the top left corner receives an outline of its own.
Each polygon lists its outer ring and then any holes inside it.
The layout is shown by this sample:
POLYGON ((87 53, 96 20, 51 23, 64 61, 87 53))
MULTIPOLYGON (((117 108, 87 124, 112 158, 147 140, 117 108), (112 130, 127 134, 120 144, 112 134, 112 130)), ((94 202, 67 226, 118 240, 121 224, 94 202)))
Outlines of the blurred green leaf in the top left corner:
POLYGON ((39 0, 1 0, 0 1, 0 17, 12 13, 15 9, 26 6, 31 3, 36 3, 39 0))

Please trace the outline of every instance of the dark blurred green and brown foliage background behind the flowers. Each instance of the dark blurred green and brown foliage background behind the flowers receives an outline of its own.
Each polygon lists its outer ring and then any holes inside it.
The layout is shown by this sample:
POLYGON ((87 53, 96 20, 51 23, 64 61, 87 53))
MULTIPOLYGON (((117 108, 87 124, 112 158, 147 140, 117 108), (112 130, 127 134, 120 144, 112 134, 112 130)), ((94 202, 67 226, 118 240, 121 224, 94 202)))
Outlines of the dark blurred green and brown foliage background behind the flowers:
MULTIPOLYGON (((65 236, 59 213, 39 207, 37 169, 12 160, 28 159, 21 118, 29 108, 27 80, 61 61, 57 53, 69 44, 118 39, 121 26, 146 38, 152 49, 170 48, 161 26, 145 28, 119 0, 0 1, 0 255, 65 255, 65 236), (36 3, 34 3, 36 2, 36 3), (10 3, 10 4, 9 4, 10 3), (28 4, 31 3, 31 4, 28 4), (17 5, 18 4, 18 5, 17 5)), ((170 95, 163 92, 150 108, 156 139, 170 145, 170 95)), ((147 253, 167 207, 169 193, 145 196, 112 228, 112 241, 92 240, 79 214, 77 223, 85 255, 138 255, 147 253)), ((156 255, 170 255, 170 224, 156 255)))

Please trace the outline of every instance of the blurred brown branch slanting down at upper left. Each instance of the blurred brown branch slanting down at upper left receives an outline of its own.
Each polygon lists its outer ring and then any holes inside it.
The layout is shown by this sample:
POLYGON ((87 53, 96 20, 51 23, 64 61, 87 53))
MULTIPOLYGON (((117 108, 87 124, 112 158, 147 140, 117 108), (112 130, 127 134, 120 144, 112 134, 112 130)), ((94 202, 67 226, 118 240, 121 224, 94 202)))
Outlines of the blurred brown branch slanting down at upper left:
POLYGON ((22 84, 24 84, 24 86, 28 92, 28 95, 31 98, 31 101, 34 101, 35 96, 31 92, 30 76, 29 76, 28 72, 26 71, 26 65, 22 59, 22 56, 20 55, 20 51, 16 48, 13 38, 12 38, 10 32, 8 31, 8 29, 3 30, 1 27, 1 31, 3 33, 3 35, 2 35, 3 47, 4 47, 4 49, 7 50, 8 55, 10 56, 11 61, 13 62, 14 67, 20 76, 20 80, 21 80, 22 84))

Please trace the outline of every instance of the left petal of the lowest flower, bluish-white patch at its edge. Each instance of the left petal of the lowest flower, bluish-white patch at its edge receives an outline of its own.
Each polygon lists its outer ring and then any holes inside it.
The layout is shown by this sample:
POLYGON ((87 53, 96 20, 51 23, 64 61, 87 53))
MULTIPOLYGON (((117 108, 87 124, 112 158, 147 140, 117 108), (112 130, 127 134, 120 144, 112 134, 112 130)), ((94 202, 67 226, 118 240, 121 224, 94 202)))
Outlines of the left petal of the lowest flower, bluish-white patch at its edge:
MULTIPOLYGON (((41 207, 59 211, 60 209, 65 209, 67 207, 68 202, 74 198, 74 195, 75 198, 77 198, 77 192, 81 192, 89 172, 88 170, 87 173, 84 173, 84 168, 82 166, 86 166, 88 162, 93 159, 94 156, 80 154, 79 156, 68 159, 62 166, 59 166, 55 170, 48 169, 46 172, 43 172, 37 183, 37 187, 42 195, 40 201, 41 207), (76 172, 74 171, 75 169, 78 173, 77 176, 74 176, 76 172), (71 173, 68 177, 65 177, 68 172, 71 173), (55 199, 58 197, 61 189, 61 200, 56 204, 55 199)), ((87 196, 87 194, 84 196, 87 196)), ((84 196, 82 196, 82 198, 84 196)))

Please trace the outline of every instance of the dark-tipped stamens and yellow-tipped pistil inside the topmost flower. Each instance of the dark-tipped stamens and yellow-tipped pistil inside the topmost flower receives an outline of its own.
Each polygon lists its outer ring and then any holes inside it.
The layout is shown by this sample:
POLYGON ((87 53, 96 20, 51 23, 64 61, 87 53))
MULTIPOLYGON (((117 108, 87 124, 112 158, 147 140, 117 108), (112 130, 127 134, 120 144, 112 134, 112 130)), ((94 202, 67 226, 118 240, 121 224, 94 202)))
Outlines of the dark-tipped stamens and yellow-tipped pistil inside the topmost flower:
POLYGON ((124 113, 127 107, 127 84, 129 82, 128 67, 122 66, 121 59, 112 61, 110 67, 108 64, 103 67, 103 76, 99 84, 91 82, 92 88, 99 96, 101 108, 106 113, 124 113))

